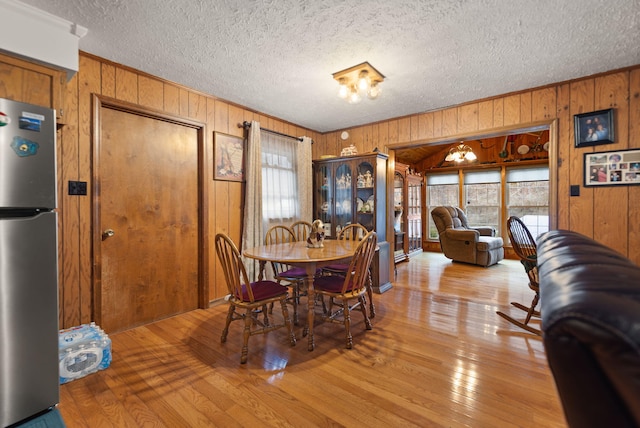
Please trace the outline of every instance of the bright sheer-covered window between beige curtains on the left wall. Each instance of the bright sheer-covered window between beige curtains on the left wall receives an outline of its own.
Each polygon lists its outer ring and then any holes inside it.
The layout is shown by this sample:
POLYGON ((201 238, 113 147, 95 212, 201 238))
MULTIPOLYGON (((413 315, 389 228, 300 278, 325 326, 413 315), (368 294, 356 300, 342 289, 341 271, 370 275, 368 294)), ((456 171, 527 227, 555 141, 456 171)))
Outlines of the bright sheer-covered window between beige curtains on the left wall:
POLYGON ((297 140, 261 133, 262 215, 265 230, 274 224, 292 223, 299 217, 297 140))

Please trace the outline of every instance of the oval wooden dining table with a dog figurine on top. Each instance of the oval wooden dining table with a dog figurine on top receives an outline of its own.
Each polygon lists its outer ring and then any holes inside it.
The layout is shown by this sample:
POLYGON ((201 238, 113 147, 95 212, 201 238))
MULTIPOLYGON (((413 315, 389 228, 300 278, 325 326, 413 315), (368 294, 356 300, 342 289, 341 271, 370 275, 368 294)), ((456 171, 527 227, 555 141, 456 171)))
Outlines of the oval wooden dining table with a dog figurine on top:
POLYGON ((315 317, 315 292, 313 279, 318 268, 353 257, 358 241, 325 239, 323 247, 311 248, 305 241, 285 242, 280 244, 260 245, 245 249, 242 254, 260 262, 260 274, 267 262, 276 262, 304 268, 306 272, 308 316, 305 331, 308 334, 309 351, 313 351, 313 323, 315 317))

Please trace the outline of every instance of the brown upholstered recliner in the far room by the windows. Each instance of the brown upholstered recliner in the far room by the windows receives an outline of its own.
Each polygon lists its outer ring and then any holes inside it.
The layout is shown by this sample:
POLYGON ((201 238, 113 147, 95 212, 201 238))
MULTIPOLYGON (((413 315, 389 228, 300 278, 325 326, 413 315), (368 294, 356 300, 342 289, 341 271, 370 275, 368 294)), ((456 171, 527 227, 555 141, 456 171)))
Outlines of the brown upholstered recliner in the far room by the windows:
POLYGON ((436 207, 431 211, 444 255, 456 262, 491 266, 504 258, 502 238, 492 227, 469 227, 464 211, 457 207, 436 207))

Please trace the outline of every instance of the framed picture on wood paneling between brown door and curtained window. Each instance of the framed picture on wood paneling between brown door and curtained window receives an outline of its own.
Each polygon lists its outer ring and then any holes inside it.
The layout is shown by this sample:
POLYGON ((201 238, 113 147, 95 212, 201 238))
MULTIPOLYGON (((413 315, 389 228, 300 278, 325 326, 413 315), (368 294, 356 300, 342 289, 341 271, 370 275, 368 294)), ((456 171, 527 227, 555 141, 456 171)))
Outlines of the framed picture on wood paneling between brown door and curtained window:
POLYGON ((213 144, 213 178, 244 181, 244 139, 214 132, 213 144))

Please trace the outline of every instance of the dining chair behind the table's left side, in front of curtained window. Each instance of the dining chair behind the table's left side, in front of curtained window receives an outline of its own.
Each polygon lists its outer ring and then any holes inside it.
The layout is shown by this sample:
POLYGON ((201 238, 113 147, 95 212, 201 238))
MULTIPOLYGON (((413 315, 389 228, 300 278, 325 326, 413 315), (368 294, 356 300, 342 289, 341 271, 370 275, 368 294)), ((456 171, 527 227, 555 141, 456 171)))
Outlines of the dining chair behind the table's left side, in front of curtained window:
MULTIPOLYGON (((284 225, 272 226, 269 228, 264 238, 265 245, 296 241, 293 231, 284 225)), ((273 276, 275 280, 279 284, 291 287, 291 297, 288 302, 293 306, 293 323, 298 325, 298 306, 300 304, 300 296, 304 288, 304 282, 307 278, 307 272, 303 268, 277 262, 271 262, 271 267, 273 269, 273 276)))

